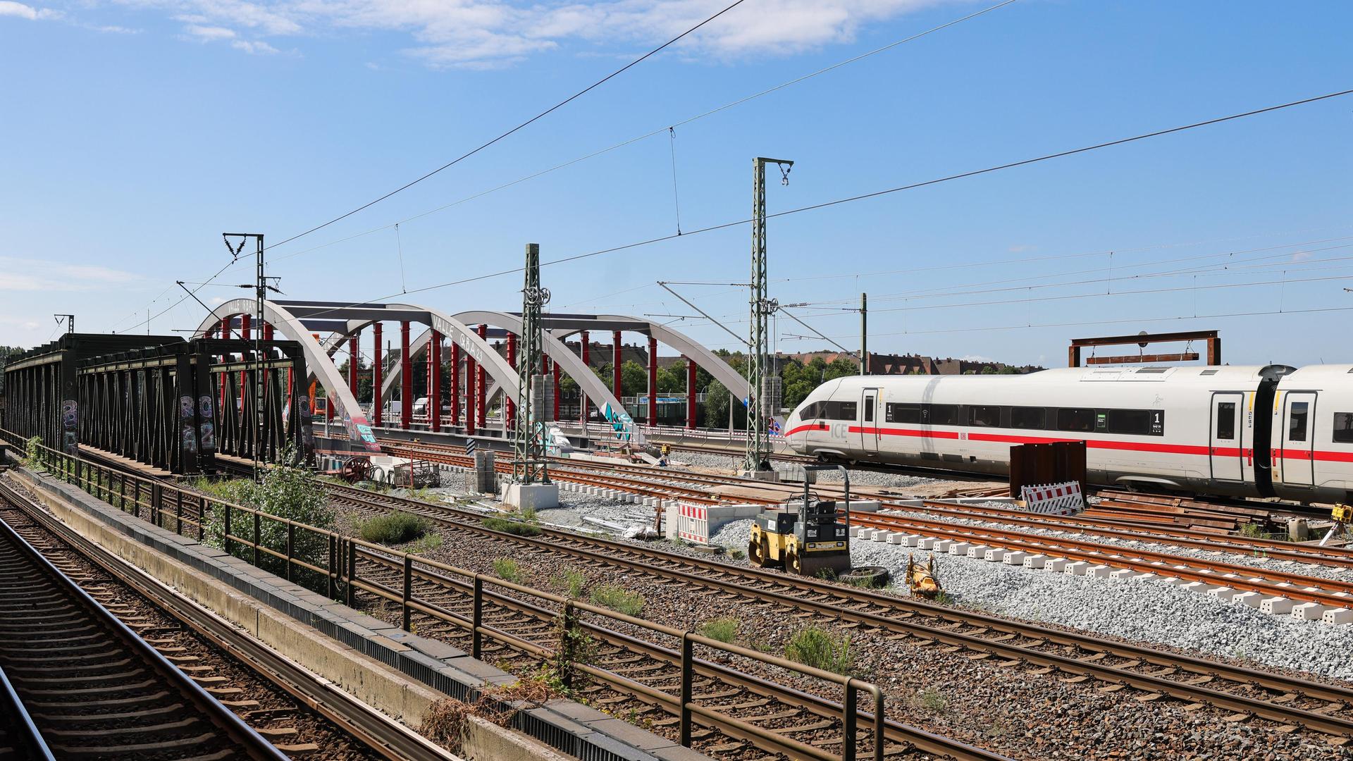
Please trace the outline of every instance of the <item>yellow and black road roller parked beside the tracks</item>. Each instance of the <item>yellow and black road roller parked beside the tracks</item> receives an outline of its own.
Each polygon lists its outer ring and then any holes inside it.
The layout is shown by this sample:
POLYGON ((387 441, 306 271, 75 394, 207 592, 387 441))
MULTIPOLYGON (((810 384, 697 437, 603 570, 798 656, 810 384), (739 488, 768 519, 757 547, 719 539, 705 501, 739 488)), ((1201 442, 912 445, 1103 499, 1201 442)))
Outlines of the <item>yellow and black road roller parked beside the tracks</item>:
POLYGON ((839 575, 851 570, 850 563, 850 474, 840 466, 804 466, 804 493, 774 508, 767 508, 752 521, 747 558, 762 567, 781 567, 800 575, 823 571, 839 575), (846 485, 846 520, 836 520, 838 504, 820 500, 810 490, 817 470, 839 470, 846 485))

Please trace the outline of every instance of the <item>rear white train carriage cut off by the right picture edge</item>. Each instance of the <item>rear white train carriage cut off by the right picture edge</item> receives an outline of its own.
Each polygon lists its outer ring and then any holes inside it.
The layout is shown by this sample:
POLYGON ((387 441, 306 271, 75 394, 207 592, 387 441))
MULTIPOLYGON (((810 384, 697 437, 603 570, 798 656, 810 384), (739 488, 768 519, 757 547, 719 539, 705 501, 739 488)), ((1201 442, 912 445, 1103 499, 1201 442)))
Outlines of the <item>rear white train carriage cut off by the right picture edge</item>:
POLYGON ((1272 408, 1277 496, 1353 504, 1353 366, 1315 364, 1287 375, 1272 408))

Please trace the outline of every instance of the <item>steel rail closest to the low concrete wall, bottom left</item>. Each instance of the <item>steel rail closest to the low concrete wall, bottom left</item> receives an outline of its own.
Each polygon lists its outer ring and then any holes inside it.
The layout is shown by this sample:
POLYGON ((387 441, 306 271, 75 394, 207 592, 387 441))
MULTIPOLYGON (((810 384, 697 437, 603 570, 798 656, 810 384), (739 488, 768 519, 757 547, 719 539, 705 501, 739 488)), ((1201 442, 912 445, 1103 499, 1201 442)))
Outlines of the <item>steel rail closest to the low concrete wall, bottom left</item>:
POLYGON ((170 617, 230 653, 253 672, 291 695, 298 703, 333 722, 386 758, 415 761, 449 758, 445 750, 418 734, 394 724, 337 685, 317 678, 280 653, 245 635, 229 622, 187 600, 145 571, 129 566, 111 551, 80 536, 9 485, 0 483, 0 498, 14 504, 43 529, 78 550, 85 559, 147 599, 170 617))

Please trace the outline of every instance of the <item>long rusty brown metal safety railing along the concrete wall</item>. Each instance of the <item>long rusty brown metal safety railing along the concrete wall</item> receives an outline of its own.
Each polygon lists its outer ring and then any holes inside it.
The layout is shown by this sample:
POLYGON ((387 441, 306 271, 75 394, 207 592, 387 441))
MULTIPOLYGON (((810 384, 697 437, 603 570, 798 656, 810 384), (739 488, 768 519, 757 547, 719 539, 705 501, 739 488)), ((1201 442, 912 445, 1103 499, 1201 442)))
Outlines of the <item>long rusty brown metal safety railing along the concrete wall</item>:
MULTIPOLYGON (((7 431, 0 429, 0 437, 22 447, 22 439, 7 431)), ((37 448, 37 460, 31 464, 41 466, 50 475, 78 486, 81 490, 110 505, 129 512, 138 519, 147 520, 160 528, 173 531, 177 535, 196 538, 199 542, 211 536, 221 542, 221 548, 227 554, 249 561, 258 567, 264 567, 262 563, 268 558, 275 561, 272 565, 277 562, 284 563, 284 571, 280 575, 285 575, 288 581, 296 581, 294 577, 298 575, 298 570, 308 571, 314 574, 313 578, 322 580, 319 589, 315 589, 315 592, 326 594, 333 600, 342 600, 348 605, 353 605, 357 593, 365 592, 388 603, 398 604, 405 631, 414 630, 414 613, 422 613, 457 627, 469 634, 471 655, 475 658, 482 655, 486 640, 543 659, 557 658, 561 653, 567 657, 567 649, 571 647, 570 643, 575 642, 578 635, 586 634, 612 642, 622 642, 633 650, 645 653, 659 661, 679 665, 681 681, 676 695, 593 666, 584 661, 572 664, 572 668, 621 692, 662 704, 666 710, 676 714, 681 743, 686 747, 691 745, 694 724, 700 723, 729 737, 752 742, 764 750, 785 753, 794 758, 854 761, 859 757, 856 754, 856 735, 863 727, 873 730, 870 756, 875 761, 882 761, 884 758, 884 692, 869 681, 836 674, 758 650, 739 647, 693 631, 658 624, 601 605, 505 581, 494 575, 469 571, 410 552, 399 552, 382 544, 342 536, 334 531, 231 504, 154 478, 130 474, 49 447, 39 445, 37 448), (214 515, 219 515, 219 524, 215 528, 210 528, 208 521, 212 520, 211 516, 214 515), (269 525, 280 525, 283 528, 279 532, 283 539, 277 546, 269 546, 265 542, 265 535, 276 536, 275 532, 265 531, 269 525), (310 551, 303 551, 303 547, 310 551), (399 581, 391 585, 379 581, 376 578, 379 573, 363 574, 359 570, 361 562, 373 565, 377 569, 386 569, 396 574, 399 581), (469 613, 455 612, 419 596, 417 590, 428 586, 468 596, 469 613), (515 594, 509 594, 507 592, 515 594), (537 642, 522 639, 484 623, 486 604, 559 622, 559 645, 555 649, 545 647, 537 642), (595 619, 584 620, 583 613, 595 616, 595 619), (672 640, 674 646, 667 647, 659 642, 639 639, 609 628, 610 624, 617 623, 667 636, 672 640), (737 672, 716 661, 697 658, 695 647, 704 647, 725 657, 746 658, 764 666, 783 669, 840 688, 842 699, 836 708, 827 710, 825 707, 832 704, 821 701, 816 710, 819 715, 835 715, 840 718, 840 753, 831 753, 817 745, 790 738, 785 733, 751 724, 697 703, 693 695, 697 685, 697 676, 720 678, 754 691, 758 685, 766 685, 781 695, 805 696, 805 693, 737 672), (871 711, 859 708, 858 699, 861 692, 867 695, 871 711)), ((304 575, 304 573, 300 575, 304 575)))

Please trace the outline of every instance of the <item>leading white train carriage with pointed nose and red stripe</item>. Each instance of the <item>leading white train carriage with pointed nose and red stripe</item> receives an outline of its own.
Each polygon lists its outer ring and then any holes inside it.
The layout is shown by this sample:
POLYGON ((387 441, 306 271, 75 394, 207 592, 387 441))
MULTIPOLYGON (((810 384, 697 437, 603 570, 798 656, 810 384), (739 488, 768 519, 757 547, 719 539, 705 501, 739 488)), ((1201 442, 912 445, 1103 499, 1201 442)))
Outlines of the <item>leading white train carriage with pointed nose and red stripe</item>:
POLYGON ((1009 473, 1012 444, 1084 440, 1095 483, 1273 496, 1265 412, 1292 370, 852 376, 815 390, 785 431, 796 451, 824 459, 997 475, 1009 473))

